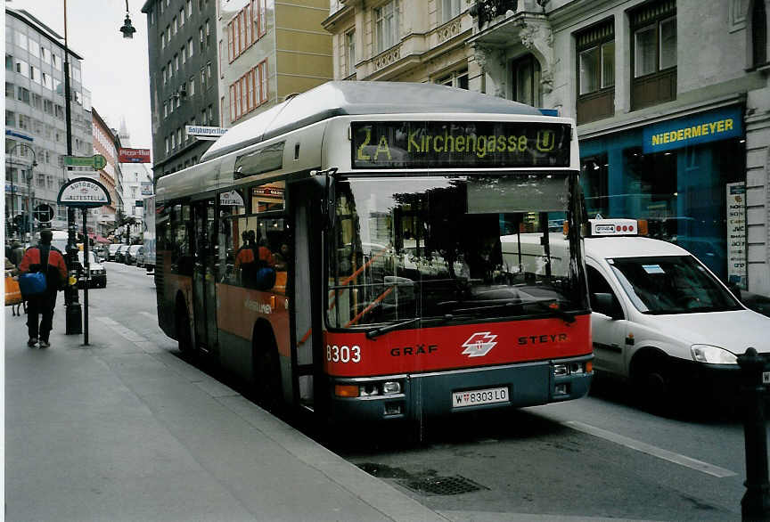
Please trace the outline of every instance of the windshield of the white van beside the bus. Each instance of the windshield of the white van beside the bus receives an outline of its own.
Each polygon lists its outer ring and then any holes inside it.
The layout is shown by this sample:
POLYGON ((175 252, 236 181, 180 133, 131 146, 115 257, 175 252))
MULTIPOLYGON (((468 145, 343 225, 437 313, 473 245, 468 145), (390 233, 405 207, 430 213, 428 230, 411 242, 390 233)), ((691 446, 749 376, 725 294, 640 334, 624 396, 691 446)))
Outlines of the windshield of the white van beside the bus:
POLYGON ((616 257, 607 262, 628 298, 643 314, 743 309, 692 256, 616 257))

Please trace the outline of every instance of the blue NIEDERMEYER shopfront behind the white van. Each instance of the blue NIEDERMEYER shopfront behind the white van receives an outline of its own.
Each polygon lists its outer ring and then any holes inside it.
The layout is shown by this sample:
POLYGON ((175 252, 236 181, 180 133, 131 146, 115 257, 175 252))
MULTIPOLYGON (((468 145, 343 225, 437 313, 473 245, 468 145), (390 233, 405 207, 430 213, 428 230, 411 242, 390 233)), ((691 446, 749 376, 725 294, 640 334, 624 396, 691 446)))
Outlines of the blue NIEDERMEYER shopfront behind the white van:
POLYGON ((581 139, 589 217, 646 219, 722 281, 746 288, 742 104, 581 139))

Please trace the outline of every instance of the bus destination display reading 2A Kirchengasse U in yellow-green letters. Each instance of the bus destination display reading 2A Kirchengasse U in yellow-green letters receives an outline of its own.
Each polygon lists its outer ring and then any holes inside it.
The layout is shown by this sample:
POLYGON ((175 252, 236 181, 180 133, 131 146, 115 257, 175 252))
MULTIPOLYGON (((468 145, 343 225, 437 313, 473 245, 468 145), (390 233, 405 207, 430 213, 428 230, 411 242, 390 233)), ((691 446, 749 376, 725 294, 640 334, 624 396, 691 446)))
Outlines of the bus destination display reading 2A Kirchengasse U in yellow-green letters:
POLYGON ((569 167, 569 125, 354 121, 354 168, 569 167))

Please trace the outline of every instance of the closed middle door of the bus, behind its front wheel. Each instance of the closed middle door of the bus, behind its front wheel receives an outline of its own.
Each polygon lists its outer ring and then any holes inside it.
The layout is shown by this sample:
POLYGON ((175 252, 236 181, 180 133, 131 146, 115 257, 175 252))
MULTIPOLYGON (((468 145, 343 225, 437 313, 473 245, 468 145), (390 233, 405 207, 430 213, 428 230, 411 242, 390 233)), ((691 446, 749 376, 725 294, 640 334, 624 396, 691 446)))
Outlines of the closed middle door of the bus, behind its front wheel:
POLYGON ((217 222, 214 200, 193 203, 193 314, 195 342, 209 352, 217 345, 217 222))

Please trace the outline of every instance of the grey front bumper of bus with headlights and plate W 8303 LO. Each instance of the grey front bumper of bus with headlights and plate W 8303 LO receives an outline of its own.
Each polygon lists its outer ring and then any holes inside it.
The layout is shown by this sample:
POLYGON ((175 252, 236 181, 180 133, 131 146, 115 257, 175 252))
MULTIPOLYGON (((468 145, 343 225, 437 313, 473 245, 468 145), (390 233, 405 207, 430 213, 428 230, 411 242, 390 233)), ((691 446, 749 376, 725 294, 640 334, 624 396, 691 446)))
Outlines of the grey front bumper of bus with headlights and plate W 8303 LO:
POLYGON ((586 371, 586 363, 593 357, 376 378, 330 378, 331 415, 336 420, 364 422, 418 420, 577 399, 591 385, 594 372, 586 371), (356 387, 359 396, 336 392, 356 387), (386 389, 388 393, 383 393, 386 389))

